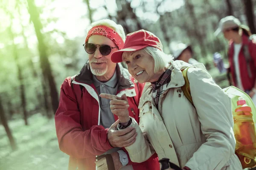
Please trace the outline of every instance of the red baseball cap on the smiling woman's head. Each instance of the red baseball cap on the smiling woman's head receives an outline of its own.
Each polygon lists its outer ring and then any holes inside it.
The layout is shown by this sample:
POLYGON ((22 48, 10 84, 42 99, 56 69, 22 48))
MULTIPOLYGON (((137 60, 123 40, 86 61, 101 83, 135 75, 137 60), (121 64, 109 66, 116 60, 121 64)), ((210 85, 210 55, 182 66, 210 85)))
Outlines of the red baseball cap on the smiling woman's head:
POLYGON ((163 45, 159 38, 149 31, 141 29, 139 31, 127 34, 124 48, 122 50, 113 52, 111 55, 111 61, 122 62, 122 54, 124 51, 137 51, 147 46, 155 47, 163 51, 163 45))

